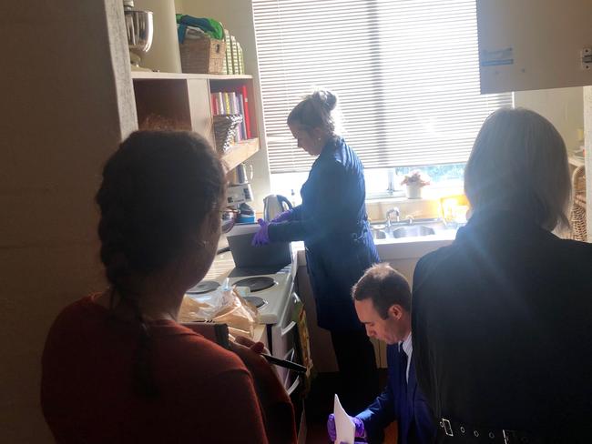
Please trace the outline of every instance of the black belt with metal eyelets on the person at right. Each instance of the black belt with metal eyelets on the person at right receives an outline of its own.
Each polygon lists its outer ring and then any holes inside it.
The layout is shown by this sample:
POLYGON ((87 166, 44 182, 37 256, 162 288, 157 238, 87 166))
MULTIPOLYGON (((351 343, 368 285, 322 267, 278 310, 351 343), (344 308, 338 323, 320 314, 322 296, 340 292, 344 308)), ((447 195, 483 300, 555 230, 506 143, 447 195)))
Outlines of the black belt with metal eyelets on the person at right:
POLYGON ((530 433, 512 429, 487 429, 469 426, 450 419, 441 418, 438 425, 447 441, 475 442, 491 444, 538 444, 545 442, 530 433))

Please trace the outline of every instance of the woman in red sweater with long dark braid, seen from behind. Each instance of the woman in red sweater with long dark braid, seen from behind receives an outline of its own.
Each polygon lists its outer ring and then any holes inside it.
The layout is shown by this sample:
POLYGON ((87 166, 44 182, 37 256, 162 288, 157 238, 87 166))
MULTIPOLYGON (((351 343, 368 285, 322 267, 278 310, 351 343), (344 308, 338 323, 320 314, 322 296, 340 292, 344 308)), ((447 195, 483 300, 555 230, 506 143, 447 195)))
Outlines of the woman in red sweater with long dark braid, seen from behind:
POLYGON ((177 321, 215 257, 225 183, 189 132, 135 132, 107 161, 97 204, 110 286, 61 312, 43 355, 57 442, 295 442, 262 345, 244 339, 233 353, 177 321))

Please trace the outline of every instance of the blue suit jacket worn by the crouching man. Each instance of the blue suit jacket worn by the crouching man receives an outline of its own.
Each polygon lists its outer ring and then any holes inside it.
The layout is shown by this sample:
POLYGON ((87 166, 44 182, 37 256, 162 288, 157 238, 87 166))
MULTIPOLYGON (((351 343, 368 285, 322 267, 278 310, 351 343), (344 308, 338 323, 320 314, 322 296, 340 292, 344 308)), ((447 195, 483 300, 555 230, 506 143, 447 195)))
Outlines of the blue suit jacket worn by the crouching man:
POLYGON ((383 429, 393 420, 398 421, 401 444, 434 442, 435 424, 432 410, 428 407, 421 389, 417 386, 413 359, 409 368, 409 383, 406 381, 406 356, 399 344, 386 348, 388 384, 374 402, 360 413, 370 442, 382 442, 383 429))

